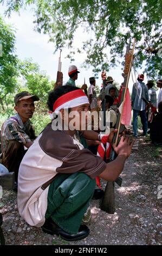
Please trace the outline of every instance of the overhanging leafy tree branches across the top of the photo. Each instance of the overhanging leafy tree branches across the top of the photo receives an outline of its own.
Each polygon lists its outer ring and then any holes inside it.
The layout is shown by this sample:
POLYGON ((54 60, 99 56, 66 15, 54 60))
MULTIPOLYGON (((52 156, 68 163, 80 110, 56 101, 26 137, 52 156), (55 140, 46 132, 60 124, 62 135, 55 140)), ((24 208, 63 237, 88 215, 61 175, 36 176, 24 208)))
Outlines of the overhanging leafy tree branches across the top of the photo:
POLYGON ((94 71, 108 70, 121 61, 125 45, 135 37, 135 66, 146 66, 150 78, 161 76, 161 0, 13 0, 7 2, 7 13, 35 4, 38 32, 49 35, 56 50, 72 48, 79 26, 92 34, 78 52, 86 51, 86 65, 94 71), (109 56, 109 53, 111 56, 109 56))

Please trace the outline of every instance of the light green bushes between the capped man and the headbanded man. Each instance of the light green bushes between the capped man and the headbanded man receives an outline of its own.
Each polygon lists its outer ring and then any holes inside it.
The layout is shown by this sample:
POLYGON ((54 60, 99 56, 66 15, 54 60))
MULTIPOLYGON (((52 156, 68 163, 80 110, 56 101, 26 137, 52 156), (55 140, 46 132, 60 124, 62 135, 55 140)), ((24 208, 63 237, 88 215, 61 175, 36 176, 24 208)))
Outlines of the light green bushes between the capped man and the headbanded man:
POLYGON ((20 61, 20 72, 22 75, 20 90, 28 90, 31 94, 40 97, 40 101, 35 102, 35 113, 31 119, 36 135, 39 135, 51 120, 47 114, 47 99, 48 92, 53 89, 53 81, 49 80, 45 71, 40 71, 40 67, 32 59, 20 61))

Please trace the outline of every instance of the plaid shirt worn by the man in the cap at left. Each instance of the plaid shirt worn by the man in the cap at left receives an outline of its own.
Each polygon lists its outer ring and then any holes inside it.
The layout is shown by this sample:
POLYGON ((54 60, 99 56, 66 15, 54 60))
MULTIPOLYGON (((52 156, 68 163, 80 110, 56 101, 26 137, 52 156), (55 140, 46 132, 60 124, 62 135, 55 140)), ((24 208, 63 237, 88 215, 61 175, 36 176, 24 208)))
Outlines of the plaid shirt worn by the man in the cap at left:
POLYGON ((2 153, 4 153, 5 149, 9 141, 16 139, 16 141, 26 144, 35 139, 35 132, 31 125, 31 121, 28 120, 23 124, 20 115, 16 114, 14 117, 11 117, 4 121, 1 128, 1 148, 2 153))

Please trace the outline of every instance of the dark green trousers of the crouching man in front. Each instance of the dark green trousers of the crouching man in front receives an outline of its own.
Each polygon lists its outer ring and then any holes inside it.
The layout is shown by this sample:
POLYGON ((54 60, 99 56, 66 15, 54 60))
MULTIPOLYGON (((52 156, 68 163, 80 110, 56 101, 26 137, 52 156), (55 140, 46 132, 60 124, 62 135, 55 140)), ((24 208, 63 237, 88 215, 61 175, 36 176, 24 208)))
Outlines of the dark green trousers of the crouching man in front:
POLYGON ((46 218, 70 234, 78 232, 95 190, 95 179, 84 173, 61 174, 49 186, 46 218))

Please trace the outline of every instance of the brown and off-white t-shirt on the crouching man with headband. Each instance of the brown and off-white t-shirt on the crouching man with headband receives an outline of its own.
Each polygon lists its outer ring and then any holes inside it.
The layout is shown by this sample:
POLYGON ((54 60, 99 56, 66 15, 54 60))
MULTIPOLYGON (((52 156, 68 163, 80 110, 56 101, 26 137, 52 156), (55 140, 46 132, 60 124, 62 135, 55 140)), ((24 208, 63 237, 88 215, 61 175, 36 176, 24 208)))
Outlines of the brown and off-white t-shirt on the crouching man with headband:
POLYGON ((95 179, 106 168, 101 157, 93 155, 66 131, 54 131, 51 124, 24 155, 18 172, 17 205, 21 217, 41 227, 45 221, 48 189, 42 185, 57 173, 83 172, 95 179))

